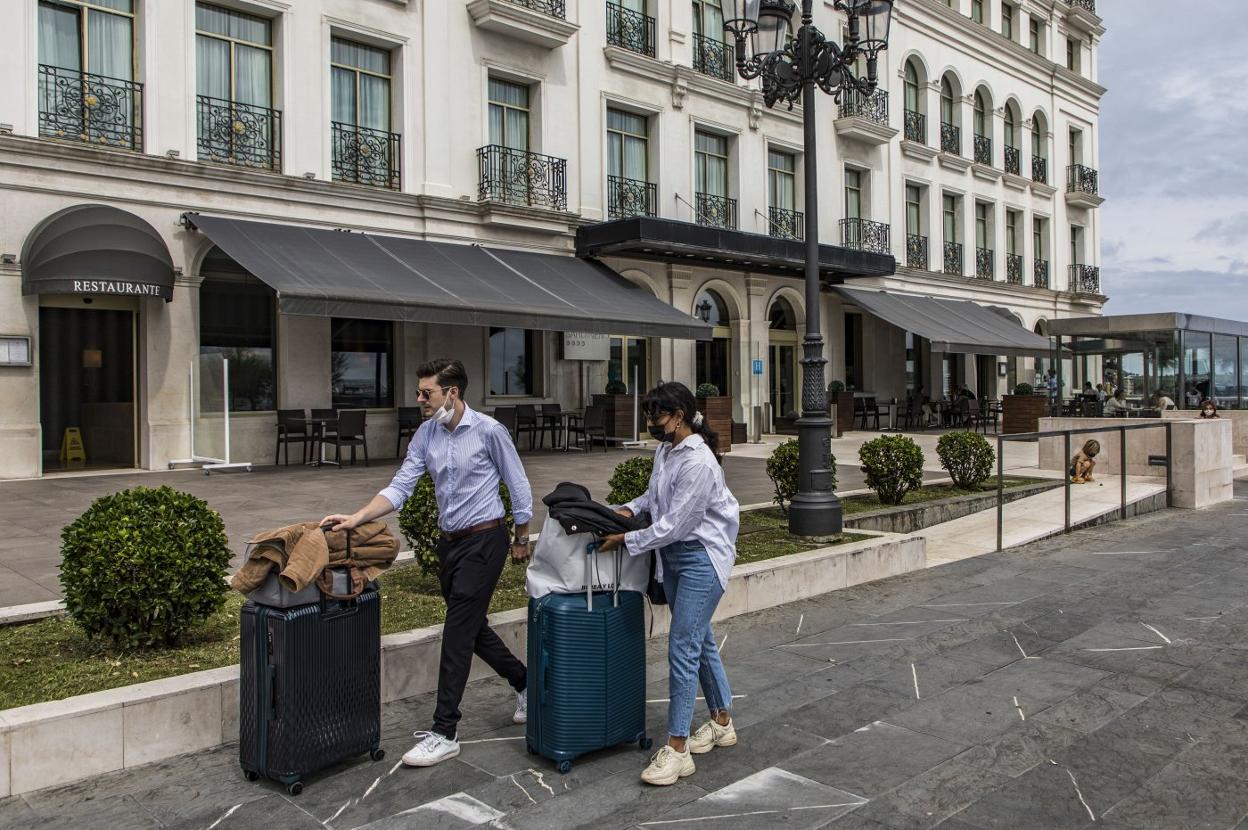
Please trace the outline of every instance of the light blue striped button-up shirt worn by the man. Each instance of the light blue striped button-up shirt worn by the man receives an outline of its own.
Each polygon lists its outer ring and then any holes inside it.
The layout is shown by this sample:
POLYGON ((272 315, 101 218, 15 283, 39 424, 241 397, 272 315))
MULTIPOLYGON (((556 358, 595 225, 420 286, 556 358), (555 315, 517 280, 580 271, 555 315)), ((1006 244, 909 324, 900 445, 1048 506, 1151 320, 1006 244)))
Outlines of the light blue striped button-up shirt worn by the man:
POLYGON ((438 527, 443 530, 463 530, 503 518, 499 479, 512 494, 515 523, 525 524, 533 518, 533 492, 510 433, 467 403, 454 431, 432 418, 421 424, 408 444, 403 466, 381 496, 396 510, 401 509, 426 472, 433 476, 438 527))

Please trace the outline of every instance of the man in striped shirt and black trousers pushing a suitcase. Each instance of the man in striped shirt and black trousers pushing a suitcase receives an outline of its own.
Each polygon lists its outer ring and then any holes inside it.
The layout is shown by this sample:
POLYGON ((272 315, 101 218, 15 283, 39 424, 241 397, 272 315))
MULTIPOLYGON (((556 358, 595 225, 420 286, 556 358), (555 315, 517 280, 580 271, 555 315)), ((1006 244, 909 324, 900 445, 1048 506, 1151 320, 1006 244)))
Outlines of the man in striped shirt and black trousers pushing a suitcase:
POLYGON ((321 520, 334 529, 353 528, 401 509, 424 473, 433 477, 438 499, 438 580, 447 600, 438 665, 438 703, 433 728, 418 731, 416 746, 403 756, 409 766, 433 766, 459 754, 459 701, 475 653, 515 689, 518 724, 528 719, 525 669, 485 623, 489 600, 507 560, 529 555, 533 494, 508 429, 464 403, 468 373, 463 363, 441 358, 417 368, 418 398, 424 422, 412 437, 407 458, 394 479, 351 515, 321 520), (512 496, 515 538, 508 545, 499 481, 512 496))

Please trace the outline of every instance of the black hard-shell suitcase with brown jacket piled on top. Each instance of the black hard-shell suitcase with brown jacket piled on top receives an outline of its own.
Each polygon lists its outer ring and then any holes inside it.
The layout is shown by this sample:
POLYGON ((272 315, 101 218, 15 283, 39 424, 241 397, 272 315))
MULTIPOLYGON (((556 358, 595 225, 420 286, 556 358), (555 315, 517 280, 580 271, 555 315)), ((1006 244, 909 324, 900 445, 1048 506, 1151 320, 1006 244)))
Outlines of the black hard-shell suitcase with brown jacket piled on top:
POLYGON ((353 755, 381 760, 381 595, 242 607, 238 756, 248 780, 303 778, 353 755))

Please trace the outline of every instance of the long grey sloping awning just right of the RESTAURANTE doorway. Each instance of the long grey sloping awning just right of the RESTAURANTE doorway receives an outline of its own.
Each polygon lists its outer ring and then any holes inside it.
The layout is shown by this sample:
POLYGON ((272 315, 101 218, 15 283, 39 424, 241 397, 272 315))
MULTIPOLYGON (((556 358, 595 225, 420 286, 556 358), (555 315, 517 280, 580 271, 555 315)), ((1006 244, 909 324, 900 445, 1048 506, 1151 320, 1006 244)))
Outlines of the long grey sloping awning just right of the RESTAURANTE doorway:
POLYGON ((710 339, 710 327, 575 257, 187 213, 287 315, 710 339))

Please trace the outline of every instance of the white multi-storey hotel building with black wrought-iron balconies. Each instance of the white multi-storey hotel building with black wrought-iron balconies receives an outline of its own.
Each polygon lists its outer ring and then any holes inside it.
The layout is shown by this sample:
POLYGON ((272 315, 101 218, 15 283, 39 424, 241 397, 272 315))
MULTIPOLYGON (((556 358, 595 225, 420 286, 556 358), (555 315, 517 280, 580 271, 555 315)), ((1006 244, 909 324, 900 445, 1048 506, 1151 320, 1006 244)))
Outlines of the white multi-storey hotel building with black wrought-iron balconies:
MULTIPOLYGON (((187 457, 201 354, 256 463, 291 408, 367 408, 393 454, 442 354, 487 408, 636 367, 795 409, 801 114, 734 77, 718 5, 0 4, 0 477, 67 428, 92 467, 187 457)), ((1099 313, 1102 34, 1093 0, 897 0, 881 91, 820 95, 829 379, 996 396, 1026 331, 1099 313)))

